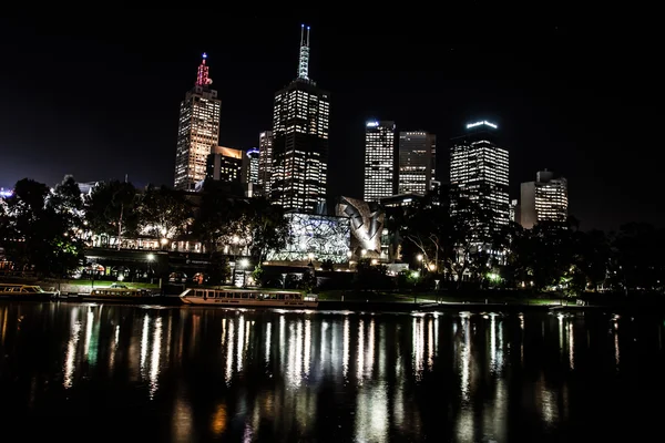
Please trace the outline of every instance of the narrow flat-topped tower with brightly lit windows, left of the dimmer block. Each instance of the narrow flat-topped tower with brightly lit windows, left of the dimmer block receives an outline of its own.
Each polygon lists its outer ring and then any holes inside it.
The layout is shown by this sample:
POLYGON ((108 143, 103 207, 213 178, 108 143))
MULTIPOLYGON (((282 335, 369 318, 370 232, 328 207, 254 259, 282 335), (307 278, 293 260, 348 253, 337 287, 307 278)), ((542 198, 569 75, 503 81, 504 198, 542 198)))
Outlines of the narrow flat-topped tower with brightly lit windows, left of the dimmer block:
POLYGON ((365 202, 395 195, 395 122, 365 125, 365 202))

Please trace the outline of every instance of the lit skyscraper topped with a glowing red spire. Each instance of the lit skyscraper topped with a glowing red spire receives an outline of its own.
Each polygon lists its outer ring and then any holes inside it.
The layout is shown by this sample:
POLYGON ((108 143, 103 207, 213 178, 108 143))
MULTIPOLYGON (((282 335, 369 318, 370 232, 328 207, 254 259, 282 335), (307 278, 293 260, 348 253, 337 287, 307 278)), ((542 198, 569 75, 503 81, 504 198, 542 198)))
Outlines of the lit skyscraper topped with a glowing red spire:
POLYGON ((208 154, 219 141, 219 109, 222 101, 217 91, 211 89, 207 55, 198 65, 196 83, 181 102, 175 153, 176 189, 194 190, 196 184, 205 179, 208 154))

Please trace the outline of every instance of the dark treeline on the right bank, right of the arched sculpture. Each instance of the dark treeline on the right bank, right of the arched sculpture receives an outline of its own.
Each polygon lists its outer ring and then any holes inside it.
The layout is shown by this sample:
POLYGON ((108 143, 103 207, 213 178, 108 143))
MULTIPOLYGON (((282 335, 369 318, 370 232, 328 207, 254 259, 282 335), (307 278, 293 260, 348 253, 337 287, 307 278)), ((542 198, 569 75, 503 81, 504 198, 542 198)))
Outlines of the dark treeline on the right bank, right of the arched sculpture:
POLYGON ((498 227, 491 213, 454 189, 443 193, 437 197, 439 205, 428 198, 387 215, 390 230, 400 237, 402 257, 415 269, 420 265, 426 278, 449 288, 663 292, 665 229, 631 223, 615 233, 584 231, 574 217, 533 229, 516 223, 498 227), (451 212, 454 205, 458 210, 451 212))

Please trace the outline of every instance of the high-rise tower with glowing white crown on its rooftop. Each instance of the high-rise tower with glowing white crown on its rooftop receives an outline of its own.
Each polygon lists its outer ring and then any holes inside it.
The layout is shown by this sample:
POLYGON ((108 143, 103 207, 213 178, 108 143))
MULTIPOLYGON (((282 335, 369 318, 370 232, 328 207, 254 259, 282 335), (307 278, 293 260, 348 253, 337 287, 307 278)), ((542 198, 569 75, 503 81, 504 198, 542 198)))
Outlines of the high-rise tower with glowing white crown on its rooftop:
MULTIPOLYGON (((510 219, 509 156, 497 143, 497 131, 495 124, 481 121, 468 124, 464 135, 451 140, 450 184, 490 214, 490 226, 481 228, 499 228, 510 219)), ((458 210, 454 203, 452 210, 458 210)))

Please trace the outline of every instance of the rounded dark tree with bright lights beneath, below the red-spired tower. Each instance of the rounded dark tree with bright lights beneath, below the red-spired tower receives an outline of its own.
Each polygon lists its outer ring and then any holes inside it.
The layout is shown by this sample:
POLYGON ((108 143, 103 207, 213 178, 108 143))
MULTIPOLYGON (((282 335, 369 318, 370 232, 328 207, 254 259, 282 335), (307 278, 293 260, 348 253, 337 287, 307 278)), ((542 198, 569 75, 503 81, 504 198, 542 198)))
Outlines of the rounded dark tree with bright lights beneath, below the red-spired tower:
POLYGON ((156 238, 185 234, 192 209, 187 202, 166 186, 149 186, 139 203, 139 228, 156 238))

